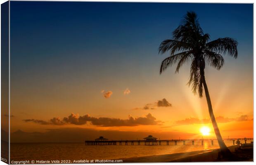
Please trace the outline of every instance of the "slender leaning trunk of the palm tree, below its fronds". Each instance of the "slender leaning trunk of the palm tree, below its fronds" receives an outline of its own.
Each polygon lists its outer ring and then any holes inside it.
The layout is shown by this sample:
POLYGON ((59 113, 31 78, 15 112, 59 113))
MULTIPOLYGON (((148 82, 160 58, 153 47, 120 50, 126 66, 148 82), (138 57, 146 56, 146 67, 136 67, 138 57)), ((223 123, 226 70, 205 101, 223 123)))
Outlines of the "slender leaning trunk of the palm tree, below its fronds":
POLYGON ((220 152, 225 156, 227 156, 227 155, 230 156, 231 152, 228 149, 228 147, 225 145, 225 143, 223 142, 223 139, 222 139, 221 134, 220 134, 220 130, 218 128, 217 122, 216 122, 214 114, 213 114, 213 108, 211 106, 211 98, 210 98, 210 95, 209 95, 208 87, 206 85, 206 80, 205 80, 204 76, 202 78, 202 81, 203 81, 203 85, 204 85, 204 92, 205 92, 205 96, 206 96, 206 100, 207 100, 207 104, 208 104, 208 109, 209 109, 211 122, 213 124, 213 129, 214 129, 214 132, 216 134, 218 144, 220 146, 220 152))

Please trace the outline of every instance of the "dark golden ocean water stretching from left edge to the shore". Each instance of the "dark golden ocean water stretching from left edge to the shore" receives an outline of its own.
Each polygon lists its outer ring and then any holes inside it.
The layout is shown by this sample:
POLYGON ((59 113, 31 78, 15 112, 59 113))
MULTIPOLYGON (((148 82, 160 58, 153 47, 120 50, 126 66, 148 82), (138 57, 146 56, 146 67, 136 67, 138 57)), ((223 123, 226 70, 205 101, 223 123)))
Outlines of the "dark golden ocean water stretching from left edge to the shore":
MULTIPOLYGON (((241 140, 242 143, 244 141, 241 140)), ((191 141, 178 141, 178 145, 174 142, 162 142, 161 146, 145 146, 137 145, 116 145, 116 146, 88 146, 85 143, 11 143, 11 161, 17 160, 114 160, 123 158, 132 158, 140 156, 152 156, 171 153, 183 153, 190 151, 201 151, 219 148, 217 141, 195 141, 192 145, 191 141)), ((247 140, 247 143, 250 143, 247 140)), ((143 144, 143 143, 141 143, 143 144)), ((227 146, 232 146, 232 141, 225 141, 227 146)))

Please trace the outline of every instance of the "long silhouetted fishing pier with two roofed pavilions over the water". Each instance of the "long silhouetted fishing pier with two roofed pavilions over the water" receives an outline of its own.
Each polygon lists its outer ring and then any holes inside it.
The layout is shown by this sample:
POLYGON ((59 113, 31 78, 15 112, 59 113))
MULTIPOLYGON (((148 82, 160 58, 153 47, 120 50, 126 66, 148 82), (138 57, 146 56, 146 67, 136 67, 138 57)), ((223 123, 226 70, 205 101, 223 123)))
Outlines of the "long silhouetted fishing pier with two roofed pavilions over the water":
MULTIPOLYGON (((148 146, 154 146, 154 145, 177 145, 178 143, 182 143, 183 145, 186 144, 195 144, 195 141, 197 141, 197 144, 204 145, 205 141, 211 141, 211 145, 213 145, 213 142, 217 142, 217 139, 171 139, 171 140, 158 140, 156 137, 153 137, 152 135, 149 135, 148 137, 143 138, 144 140, 108 140, 104 137, 99 137, 95 139, 94 141, 85 141, 85 145, 148 145, 148 146)), ((252 141, 253 138, 239 138, 244 141, 244 143, 247 143, 247 140, 252 141)), ((232 144, 236 144, 236 140, 238 139, 223 139, 223 141, 232 141, 232 144)), ((218 143, 218 142, 217 142, 218 143)))

